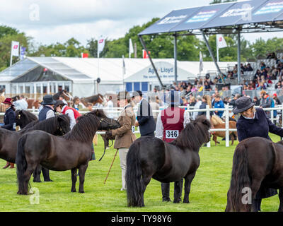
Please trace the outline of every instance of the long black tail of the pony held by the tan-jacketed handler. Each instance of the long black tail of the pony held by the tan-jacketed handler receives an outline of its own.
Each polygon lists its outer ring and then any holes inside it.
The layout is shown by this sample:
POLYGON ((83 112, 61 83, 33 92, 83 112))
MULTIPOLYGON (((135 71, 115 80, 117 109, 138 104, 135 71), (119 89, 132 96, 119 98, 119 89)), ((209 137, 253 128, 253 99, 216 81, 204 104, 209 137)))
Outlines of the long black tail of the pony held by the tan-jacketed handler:
POLYGON ((18 140, 18 151, 16 156, 17 165, 17 177, 18 177, 18 194, 27 194, 25 191, 25 170, 28 167, 27 161, 25 160, 25 150, 23 145, 25 144, 26 136, 22 136, 18 140))

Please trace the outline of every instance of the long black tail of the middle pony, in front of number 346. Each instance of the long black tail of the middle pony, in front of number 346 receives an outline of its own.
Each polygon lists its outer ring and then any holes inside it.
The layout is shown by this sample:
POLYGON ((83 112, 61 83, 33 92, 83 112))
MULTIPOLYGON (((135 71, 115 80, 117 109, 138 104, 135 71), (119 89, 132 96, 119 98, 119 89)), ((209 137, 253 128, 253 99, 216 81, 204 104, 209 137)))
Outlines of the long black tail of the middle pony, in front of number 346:
POLYGON ((144 206, 142 191, 144 189, 141 182, 141 162, 139 160, 139 143, 132 143, 127 153, 127 202, 128 206, 144 206))

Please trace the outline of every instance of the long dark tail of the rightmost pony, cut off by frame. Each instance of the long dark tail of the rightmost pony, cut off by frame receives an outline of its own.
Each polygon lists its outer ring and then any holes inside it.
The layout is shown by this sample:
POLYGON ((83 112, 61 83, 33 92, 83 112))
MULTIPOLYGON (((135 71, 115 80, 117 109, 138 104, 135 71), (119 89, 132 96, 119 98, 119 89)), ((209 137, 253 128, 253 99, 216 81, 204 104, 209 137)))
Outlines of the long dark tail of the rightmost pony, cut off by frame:
MULTIPOLYGON (((250 177, 248 175, 248 155, 244 144, 238 144, 233 155, 233 169, 231 175, 230 189, 227 194, 226 211, 240 211, 241 206, 250 210, 251 205, 242 203, 242 189, 250 188, 250 177)), ((243 208, 241 208, 243 210, 243 208)))

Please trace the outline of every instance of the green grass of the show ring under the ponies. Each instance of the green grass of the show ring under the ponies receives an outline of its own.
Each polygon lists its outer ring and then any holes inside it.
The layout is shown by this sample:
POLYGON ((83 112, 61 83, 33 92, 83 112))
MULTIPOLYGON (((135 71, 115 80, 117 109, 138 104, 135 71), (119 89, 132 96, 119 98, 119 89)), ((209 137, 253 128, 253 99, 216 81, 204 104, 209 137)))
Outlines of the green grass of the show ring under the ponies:
MULTIPOLYGON (((221 141, 221 138, 219 138, 221 141)), ((272 141, 279 137, 272 136, 272 141)), ((237 142, 236 142, 237 144, 237 142)), ((0 160, 0 211, 154 211, 154 212, 223 212, 226 208, 226 194, 229 189, 233 150, 236 145, 225 147, 225 141, 212 148, 203 147, 200 150, 200 167, 192 181, 190 203, 163 203, 161 200, 160 182, 151 179, 144 194, 144 208, 128 208, 127 196, 121 188, 121 169, 119 155, 104 185, 104 179, 115 155, 110 148, 103 154, 103 141, 98 140, 95 146, 96 159, 89 163, 84 184, 85 193, 71 193, 71 172, 50 171, 54 182, 33 183, 31 187, 39 191, 39 204, 30 203, 33 196, 17 195, 16 169, 2 169, 6 164, 0 160)), ((79 180, 76 184, 79 190, 79 180)), ((171 183, 171 199, 173 199, 173 183, 171 183)), ((277 211, 278 196, 265 198, 262 201, 262 211, 277 211)))

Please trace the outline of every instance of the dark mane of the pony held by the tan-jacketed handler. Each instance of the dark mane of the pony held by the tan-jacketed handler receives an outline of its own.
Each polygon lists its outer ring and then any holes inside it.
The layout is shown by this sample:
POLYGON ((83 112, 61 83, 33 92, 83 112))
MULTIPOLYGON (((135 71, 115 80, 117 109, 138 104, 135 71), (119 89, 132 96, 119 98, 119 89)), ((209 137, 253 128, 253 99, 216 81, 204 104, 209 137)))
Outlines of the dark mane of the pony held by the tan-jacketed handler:
MULTIPOLYGON (((98 112, 100 113, 100 112, 98 112)), ((78 141, 86 143, 93 140, 95 132, 98 130, 100 124, 96 116, 96 110, 83 114, 76 119, 78 122, 74 125, 73 129, 63 137, 68 141, 78 141)))

